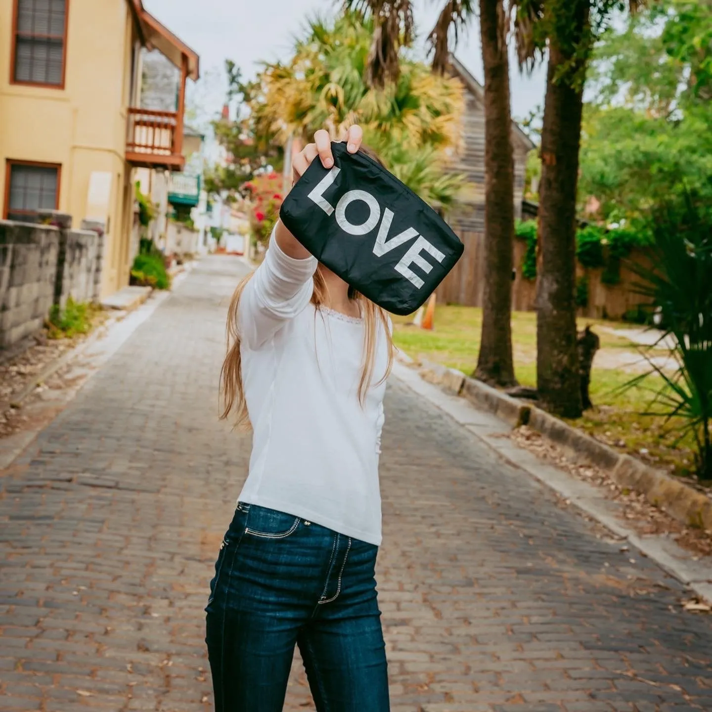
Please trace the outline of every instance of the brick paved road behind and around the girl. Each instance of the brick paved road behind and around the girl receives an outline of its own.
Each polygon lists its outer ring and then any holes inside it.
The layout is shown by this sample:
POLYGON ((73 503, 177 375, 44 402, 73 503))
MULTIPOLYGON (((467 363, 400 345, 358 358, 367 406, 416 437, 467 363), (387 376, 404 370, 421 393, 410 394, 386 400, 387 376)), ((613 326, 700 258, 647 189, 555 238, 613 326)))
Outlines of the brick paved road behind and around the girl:
MULTIPOLYGON (((0 478, 1 710, 211 709, 202 608, 248 458, 216 422, 240 269, 202 261, 0 478)), ((387 414, 394 712, 712 710, 712 619, 676 582, 397 383, 387 414)))

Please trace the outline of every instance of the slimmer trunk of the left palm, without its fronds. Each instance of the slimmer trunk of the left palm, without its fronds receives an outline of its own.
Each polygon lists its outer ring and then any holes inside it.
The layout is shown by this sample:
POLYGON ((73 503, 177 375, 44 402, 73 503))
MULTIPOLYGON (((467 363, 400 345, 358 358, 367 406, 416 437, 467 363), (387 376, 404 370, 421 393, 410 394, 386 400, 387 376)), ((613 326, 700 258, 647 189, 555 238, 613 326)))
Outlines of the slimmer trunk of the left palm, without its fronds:
POLYGON ((503 0, 480 0, 485 72, 485 285, 475 377, 516 384, 512 359, 514 155, 503 0))

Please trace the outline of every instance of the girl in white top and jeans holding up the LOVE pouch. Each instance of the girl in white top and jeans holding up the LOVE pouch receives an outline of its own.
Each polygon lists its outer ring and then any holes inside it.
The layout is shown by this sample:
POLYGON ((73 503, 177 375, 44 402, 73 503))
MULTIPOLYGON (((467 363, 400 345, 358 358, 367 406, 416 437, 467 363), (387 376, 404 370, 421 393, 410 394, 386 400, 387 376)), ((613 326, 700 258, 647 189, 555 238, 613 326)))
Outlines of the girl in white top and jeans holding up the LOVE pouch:
MULTIPOLYGON (((347 150, 359 150, 352 126, 347 150)), ((333 166, 328 132, 294 159, 333 166)), ((387 712, 374 569, 387 315, 278 221, 229 309, 223 417, 253 428, 215 565, 206 642, 217 712, 280 712, 294 646, 318 712, 387 712)))

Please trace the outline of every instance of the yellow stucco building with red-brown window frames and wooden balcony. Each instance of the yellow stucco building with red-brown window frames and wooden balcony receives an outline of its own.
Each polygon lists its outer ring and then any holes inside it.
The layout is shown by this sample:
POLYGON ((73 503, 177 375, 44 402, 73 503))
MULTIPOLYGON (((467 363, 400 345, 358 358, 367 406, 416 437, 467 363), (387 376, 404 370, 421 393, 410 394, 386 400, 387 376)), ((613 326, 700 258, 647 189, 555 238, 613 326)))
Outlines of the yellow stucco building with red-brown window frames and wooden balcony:
POLYGON ((0 0, 0 218, 58 209, 105 226, 102 294, 128 284, 135 169, 184 165, 199 58, 141 0, 0 0), (141 107, 141 50, 181 71, 175 111, 141 107))

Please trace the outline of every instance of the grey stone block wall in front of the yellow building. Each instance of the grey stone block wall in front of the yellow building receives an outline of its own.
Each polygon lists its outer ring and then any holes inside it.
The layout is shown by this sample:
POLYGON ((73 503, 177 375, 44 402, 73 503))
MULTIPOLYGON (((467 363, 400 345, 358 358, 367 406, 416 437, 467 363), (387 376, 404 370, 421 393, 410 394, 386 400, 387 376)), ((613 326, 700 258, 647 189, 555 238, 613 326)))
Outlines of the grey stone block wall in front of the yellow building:
POLYGON ((103 238, 0 220, 0 348, 42 328, 52 305, 98 300, 103 238))

